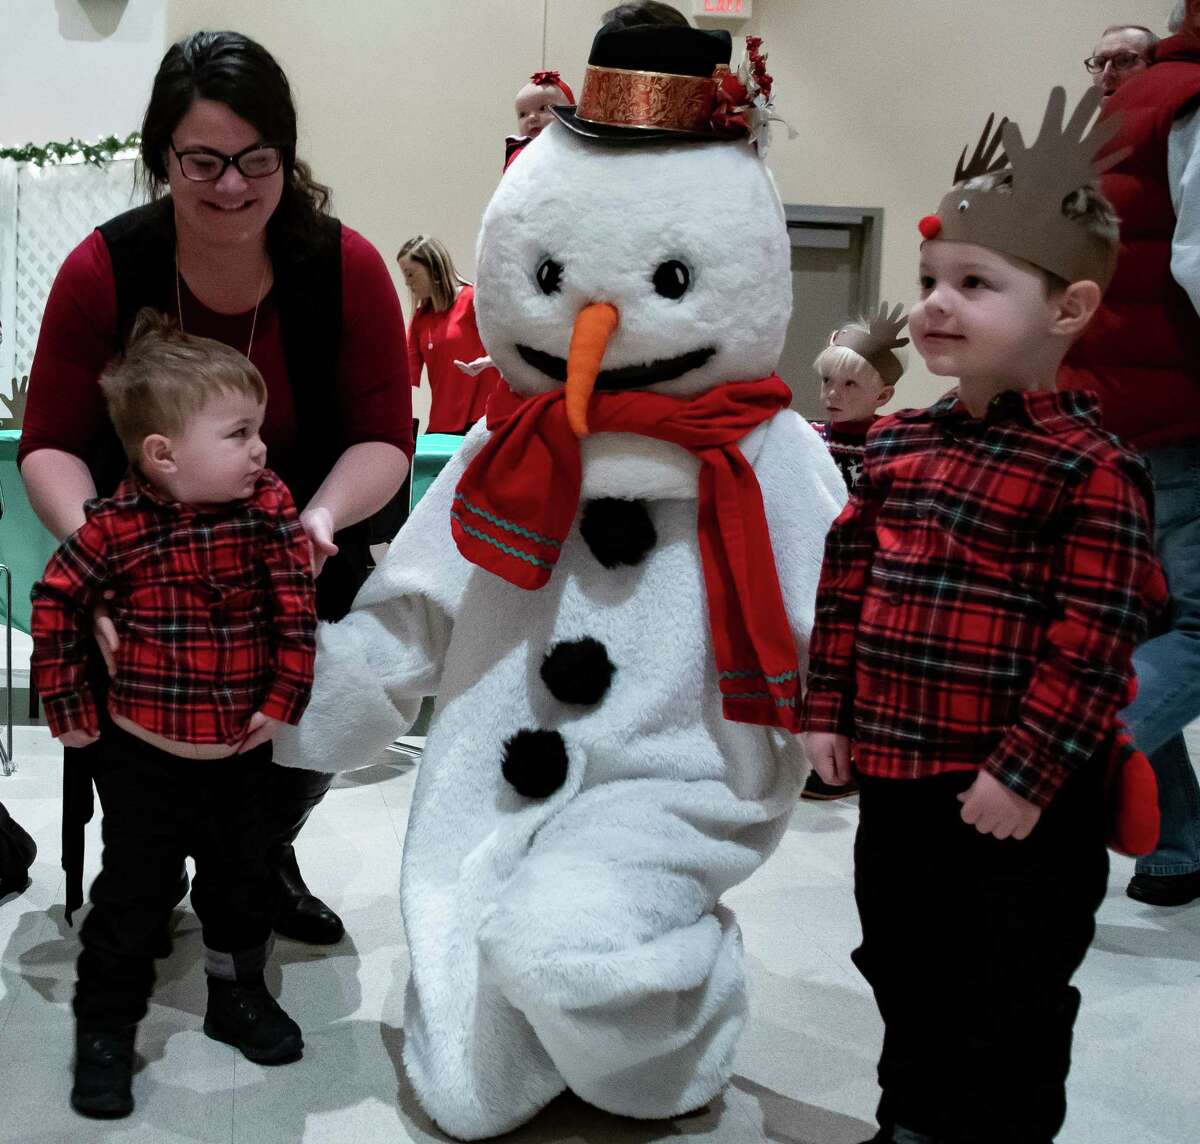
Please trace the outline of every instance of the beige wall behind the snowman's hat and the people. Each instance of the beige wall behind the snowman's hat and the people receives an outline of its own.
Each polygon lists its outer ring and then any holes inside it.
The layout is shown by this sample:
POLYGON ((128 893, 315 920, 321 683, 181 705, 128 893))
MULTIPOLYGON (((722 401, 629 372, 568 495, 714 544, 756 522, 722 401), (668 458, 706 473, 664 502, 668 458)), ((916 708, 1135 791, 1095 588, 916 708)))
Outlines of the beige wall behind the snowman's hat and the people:
MULTIPOLYGON (((168 0, 167 35, 232 26, 262 40, 292 79, 301 150, 334 186, 337 214, 389 260, 410 234, 433 233, 469 275, 516 88, 544 64, 577 88, 611 4, 168 0)), ((1081 94, 1081 61, 1105 24, 1133 20, 1162 31, 1170 7, 1171 0, 755 0, 754 18, 734 34, 764 37, 779 112, 799 132, 794 140, 778 132, 770 154, 784 200, 882 206, 881 292, 907 301, 916 289, 916 221, 936 208, 958 152, 988 112, 1032 121, 1055 83, 1081 94)), ((899 400, 920 403, 942 388, 918 360, 899 400)))

